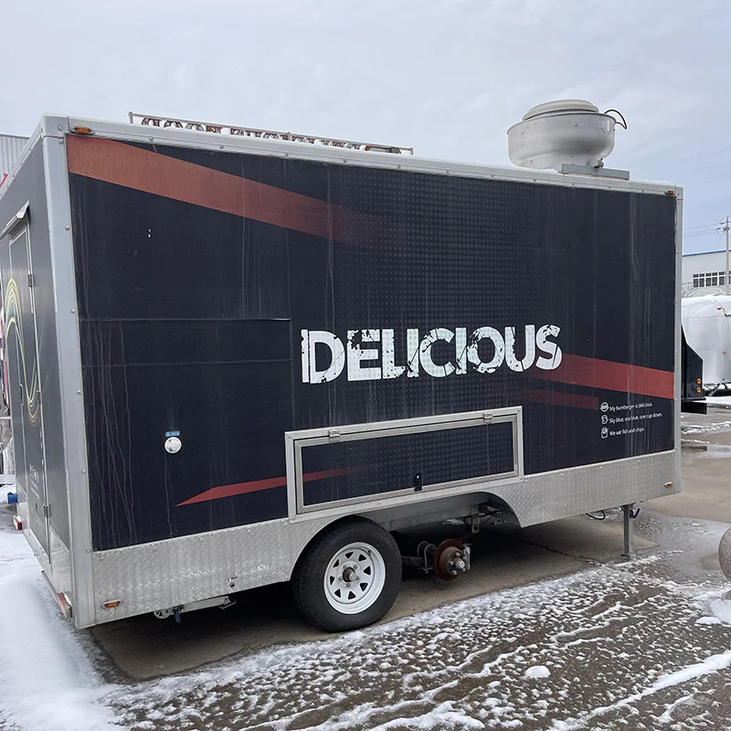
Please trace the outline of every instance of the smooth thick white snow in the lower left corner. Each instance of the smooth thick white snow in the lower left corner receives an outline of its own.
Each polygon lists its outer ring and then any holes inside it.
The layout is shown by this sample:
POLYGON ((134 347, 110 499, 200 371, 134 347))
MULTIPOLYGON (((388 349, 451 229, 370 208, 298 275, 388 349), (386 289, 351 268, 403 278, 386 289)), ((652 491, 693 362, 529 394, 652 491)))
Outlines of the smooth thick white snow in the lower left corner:
POLYGON ((0 728, 119 731, 22 533, 0 512, 0 728))

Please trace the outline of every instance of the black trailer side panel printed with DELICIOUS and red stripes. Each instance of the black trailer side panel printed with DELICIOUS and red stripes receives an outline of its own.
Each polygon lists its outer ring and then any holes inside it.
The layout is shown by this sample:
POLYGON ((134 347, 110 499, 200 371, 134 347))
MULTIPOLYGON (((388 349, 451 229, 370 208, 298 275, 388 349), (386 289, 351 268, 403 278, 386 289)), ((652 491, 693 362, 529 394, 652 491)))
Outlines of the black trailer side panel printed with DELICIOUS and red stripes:
MULTIPOLYGON (((522 406, 526 473, 673 449, 673 196, 94 138, 69 173, 97 549, 285 516, 296 429, 522 406)), ((304 450, 305 500, 507 473, 504 427, 304 450)))

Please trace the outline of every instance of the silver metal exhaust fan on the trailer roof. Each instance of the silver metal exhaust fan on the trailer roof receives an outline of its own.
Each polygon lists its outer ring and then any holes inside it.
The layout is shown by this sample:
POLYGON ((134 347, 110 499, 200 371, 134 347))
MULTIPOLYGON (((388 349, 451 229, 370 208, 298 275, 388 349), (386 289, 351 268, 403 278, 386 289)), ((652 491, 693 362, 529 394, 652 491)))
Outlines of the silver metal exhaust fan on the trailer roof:
POLYGON ((535 170, 601 167, 614 149, 616 124, 614 117, 602 114, 590 101, 546 101, 508 130, 508 154, 519 167, 535 170))

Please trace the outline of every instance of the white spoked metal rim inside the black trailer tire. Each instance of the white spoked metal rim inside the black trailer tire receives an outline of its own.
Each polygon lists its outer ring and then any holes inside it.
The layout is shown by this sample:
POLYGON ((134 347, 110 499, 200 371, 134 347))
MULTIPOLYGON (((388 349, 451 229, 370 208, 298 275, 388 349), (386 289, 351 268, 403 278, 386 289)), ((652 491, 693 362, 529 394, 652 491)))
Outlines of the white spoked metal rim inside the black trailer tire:
POLYGON ((330 559, 324 577, 325 597, 341 614, 359 614, 381 596, 386 564, 376 548, 349 543, 330 559))

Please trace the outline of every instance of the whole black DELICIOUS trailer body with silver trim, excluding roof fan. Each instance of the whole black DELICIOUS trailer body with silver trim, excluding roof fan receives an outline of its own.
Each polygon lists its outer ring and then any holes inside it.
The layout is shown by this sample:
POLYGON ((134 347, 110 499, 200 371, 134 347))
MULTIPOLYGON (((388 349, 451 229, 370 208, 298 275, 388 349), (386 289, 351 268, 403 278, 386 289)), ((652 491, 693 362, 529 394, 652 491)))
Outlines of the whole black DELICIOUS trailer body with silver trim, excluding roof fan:
POLYGON ((681 201, 44 117, 0 263, 19 514, 59 603, 84 627, 294 574, 344 629, 397 589, 388 531, 677 492, 681 201))

